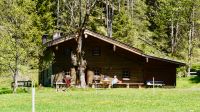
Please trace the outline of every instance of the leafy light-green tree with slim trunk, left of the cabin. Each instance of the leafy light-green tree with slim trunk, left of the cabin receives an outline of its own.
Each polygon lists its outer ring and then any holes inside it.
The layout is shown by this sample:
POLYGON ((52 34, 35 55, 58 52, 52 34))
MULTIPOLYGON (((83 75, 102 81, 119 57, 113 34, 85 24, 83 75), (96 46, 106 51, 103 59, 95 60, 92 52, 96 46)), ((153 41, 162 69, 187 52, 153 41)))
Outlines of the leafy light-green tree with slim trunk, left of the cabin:
POLYGON ((21 66, 37 68, 41 32, 33 26, 35 3, 32 0, 2 0, 0 2, 0 63, 12 71, 14 87, 21 66))

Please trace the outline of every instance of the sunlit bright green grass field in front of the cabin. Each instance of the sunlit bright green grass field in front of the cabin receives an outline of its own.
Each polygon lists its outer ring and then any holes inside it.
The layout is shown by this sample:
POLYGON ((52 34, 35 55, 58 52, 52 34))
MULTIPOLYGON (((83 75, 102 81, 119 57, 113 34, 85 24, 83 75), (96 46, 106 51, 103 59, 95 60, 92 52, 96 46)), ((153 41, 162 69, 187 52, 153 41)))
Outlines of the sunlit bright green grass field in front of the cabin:
MULTIPOLYGON (((30 93, 0 95, 0 112, 30 111, 30 93)), ((36 89, 36 112, 199 111, 200 86, 191 78, 178 79, 174 89, 36 89)))

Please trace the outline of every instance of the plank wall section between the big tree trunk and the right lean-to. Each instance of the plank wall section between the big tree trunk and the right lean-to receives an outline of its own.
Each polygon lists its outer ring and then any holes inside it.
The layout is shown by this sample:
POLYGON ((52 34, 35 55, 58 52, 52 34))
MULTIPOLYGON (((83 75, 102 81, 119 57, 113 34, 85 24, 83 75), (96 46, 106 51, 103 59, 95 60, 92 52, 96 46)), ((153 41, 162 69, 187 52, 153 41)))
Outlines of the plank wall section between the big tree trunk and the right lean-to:
POLYGON ((113 49, 113 44, 106 43, 97 38, 88 37, 84 39, 85 58, 87 67, 91 70, 100 68, 103 75, 113 77, 116 75, 119 80, 122 80, 122 72, 130 71, 130 82, 142 82, 142 66, 139 56, 127 52, 122 48, 116 47, 113 49), (92 50, 95 47, 100 47, 101 55, 93 56, 92 50))

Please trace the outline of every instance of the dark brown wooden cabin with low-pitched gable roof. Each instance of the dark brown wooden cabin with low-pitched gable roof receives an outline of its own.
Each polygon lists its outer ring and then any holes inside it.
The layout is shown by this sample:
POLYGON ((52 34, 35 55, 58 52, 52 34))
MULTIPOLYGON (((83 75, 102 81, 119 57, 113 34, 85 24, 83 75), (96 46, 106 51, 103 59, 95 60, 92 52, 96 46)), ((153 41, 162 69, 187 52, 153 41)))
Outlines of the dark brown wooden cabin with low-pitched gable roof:
MULTIPOLYGON (((49 69, 40 73, 39 83, 48 86, 53 83, 52 77, 65 72, 70 75, 71 69, 77 69, 72 64, 72 53, 76 51, 76 35, 60 37, 46 42, 47 50, 55 54, 55 60, 49 69)), ((176 86, 176 68, 184 63, 149 56, 141 50, 114 40, 113 38, 85 30, 83 38, 84 58, 87 71, 98 75, 113 77, 125 83, 144 83, 162 81, 167 86, 176 86)), ((87 82, 87 78, 86 78, 87 82)))

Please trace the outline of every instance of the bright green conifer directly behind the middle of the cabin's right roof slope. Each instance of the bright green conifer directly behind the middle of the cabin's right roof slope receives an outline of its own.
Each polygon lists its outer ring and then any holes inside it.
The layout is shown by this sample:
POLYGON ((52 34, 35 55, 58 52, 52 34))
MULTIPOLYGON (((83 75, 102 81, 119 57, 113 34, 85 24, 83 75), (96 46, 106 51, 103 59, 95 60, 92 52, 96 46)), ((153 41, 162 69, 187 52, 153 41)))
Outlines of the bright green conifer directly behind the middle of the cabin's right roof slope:
POLYGON ((149 22, 146 16, 147 6, 143 0, 121 1, 120 11, 114 15, 113 38, 152 52, 153 47, 146 45, 144 40, 149 40, 152 32, 149 31, 149 22), (122 5, 124 4, 124 5, 122 5))

